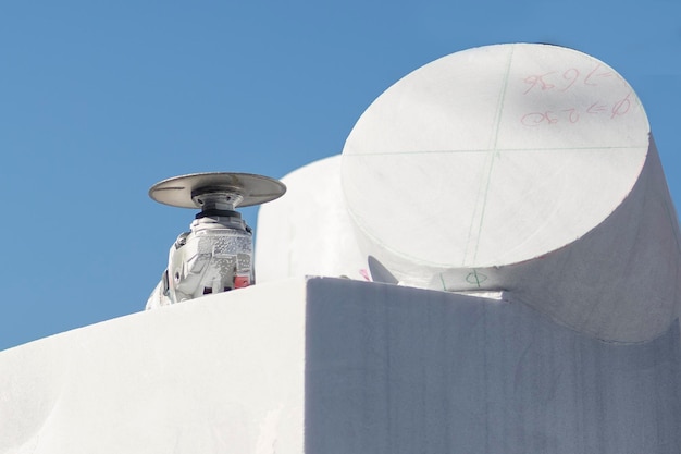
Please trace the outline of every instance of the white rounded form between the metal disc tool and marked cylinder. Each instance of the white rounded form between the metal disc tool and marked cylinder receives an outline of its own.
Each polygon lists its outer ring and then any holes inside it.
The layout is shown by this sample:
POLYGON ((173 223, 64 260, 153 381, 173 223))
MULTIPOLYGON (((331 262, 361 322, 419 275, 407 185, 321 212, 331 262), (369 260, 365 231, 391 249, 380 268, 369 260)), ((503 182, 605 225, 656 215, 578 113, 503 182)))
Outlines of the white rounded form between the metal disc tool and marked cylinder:
POLYGON ((366 279, 362 256, 340 188, 340 156, 282 179, 284 197, 262 205, 256 236, 258 283, 305 275, 366 279))

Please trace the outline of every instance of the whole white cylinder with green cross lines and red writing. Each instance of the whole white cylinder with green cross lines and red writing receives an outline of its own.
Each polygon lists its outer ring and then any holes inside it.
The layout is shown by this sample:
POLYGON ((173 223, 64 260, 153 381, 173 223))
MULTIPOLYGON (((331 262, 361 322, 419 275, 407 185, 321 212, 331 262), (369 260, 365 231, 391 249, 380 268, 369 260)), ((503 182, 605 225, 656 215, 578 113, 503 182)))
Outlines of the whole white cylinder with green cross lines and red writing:
POLYGON ((677 217, 647 118, 590 56, 498 45, 426 64, 361 115, 342 179, 364 256, 404 283, 511 291, 611 341, 677 316, 677 217))

